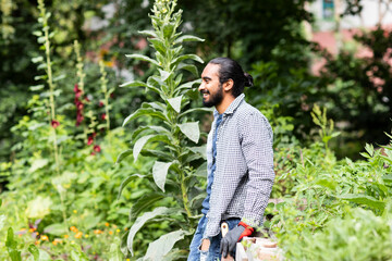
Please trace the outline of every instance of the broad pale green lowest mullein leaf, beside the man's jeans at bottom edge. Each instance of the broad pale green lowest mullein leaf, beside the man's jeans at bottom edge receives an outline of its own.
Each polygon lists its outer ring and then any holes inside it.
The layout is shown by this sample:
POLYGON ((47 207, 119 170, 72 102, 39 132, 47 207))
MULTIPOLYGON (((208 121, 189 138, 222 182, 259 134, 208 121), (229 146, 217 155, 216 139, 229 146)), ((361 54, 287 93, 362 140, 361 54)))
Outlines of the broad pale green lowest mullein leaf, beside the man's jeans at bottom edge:
POLYGON ((174 244, 184 238, 186 233, 182 229, 171 232, 150 243, 144 260, 162 260, 172 250, 174 244))

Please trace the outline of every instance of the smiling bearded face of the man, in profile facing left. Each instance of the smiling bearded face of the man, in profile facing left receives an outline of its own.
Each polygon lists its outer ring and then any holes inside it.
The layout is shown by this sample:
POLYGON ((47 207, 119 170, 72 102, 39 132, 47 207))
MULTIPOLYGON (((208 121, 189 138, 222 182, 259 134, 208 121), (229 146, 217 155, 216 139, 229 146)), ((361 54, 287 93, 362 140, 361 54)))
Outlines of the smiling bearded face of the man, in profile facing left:
POLYGON ((198 90, 203 95, 205 107, 216 107, 223 99, 223 88, 219 82, 219 64, 209 63, 201 73, 201 85, 198 90))

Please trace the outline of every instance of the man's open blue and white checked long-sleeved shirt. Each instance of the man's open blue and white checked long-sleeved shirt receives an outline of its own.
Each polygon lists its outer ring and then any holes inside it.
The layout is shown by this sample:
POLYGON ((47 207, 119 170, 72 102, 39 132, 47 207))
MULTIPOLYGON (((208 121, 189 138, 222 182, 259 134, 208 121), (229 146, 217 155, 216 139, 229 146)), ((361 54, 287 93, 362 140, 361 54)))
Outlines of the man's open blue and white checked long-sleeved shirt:
MULTIPOLYGON (((271 194, 274 179, 272 129, 265 115, 244 98, 242 94, 229 105, 218 127, 217 169, 204 238, 218 235, 221 221, 229 217, 241 217, 253 227, 260 226, 271 194)), ((211 175, 212 137, 218 115, 216 110, 207 141, 208 175, 211 175)))

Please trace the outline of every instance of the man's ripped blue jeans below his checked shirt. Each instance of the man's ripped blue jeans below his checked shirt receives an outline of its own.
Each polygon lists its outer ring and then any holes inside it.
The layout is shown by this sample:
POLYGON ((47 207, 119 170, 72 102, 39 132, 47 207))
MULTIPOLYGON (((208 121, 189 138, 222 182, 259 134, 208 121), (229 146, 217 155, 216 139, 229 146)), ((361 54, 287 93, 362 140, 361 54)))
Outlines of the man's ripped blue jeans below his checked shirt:
MULTIPOLYGON (((222 233, 219 233, 217 236, 210 238, 210 247, 208 251, 201 251, 199 248, 201 246, 203 235, 205 233, 206 226, 207 226, 207 217, 204 215, 196 228, 194 238, 192 239, 189 249, 189 256, 187 261, 217 261, 221 260, 220 257, 220 241, 222 239, 222 233)), ((238 225, 240 219, 233 217, 225 220, 224 222, 228 223, 229 229, 233 229, 235 226, 238 225)), ((232 253, 235 257, 235 252, 232 253)))

